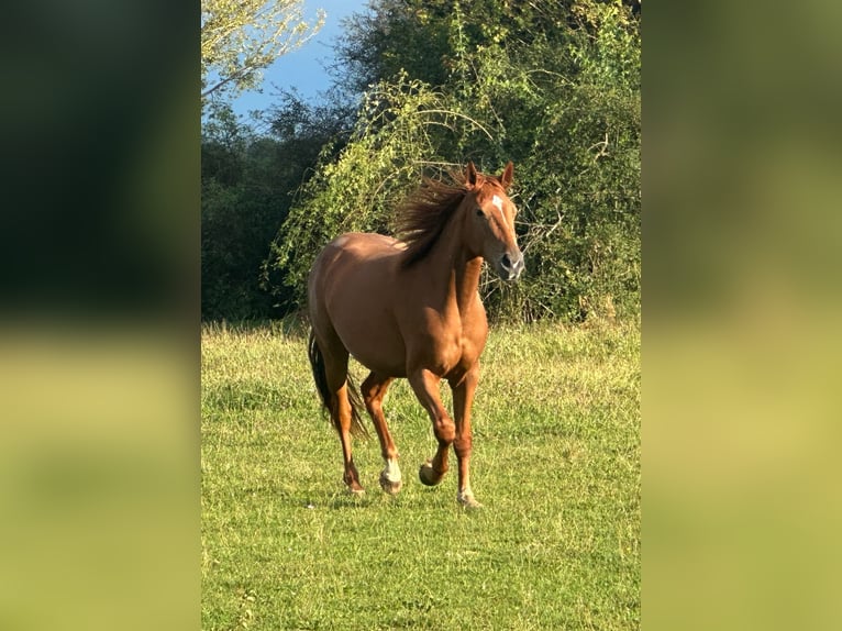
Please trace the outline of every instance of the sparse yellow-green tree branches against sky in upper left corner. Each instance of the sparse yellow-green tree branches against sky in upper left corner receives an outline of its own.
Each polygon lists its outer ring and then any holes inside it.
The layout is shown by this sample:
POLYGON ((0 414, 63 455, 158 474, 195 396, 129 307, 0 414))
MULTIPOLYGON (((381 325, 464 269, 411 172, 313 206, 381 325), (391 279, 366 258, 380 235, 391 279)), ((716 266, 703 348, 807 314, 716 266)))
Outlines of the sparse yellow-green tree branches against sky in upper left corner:
POLYGON ((202 0, 202 106, 211 95, 258 85, 261 70, 299 47, 324 23, 302 20, 301 0, 202 0))

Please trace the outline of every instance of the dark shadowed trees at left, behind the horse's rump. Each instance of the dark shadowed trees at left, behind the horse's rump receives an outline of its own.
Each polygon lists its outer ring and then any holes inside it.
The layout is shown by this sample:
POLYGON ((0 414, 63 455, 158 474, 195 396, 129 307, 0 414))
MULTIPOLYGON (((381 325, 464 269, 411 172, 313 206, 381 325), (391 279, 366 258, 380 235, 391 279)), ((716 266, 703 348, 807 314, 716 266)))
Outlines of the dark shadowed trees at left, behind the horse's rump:
POLYGON ((229 106, 211 107, 201 147, 203 319, 282 314, 276 305, 285 297, 262 289, 262 268, 289 211, 290 191, 306 178, 320 147, 343 137, 343 108, 326 109, 311 110, 287 96, 273 134, 257 135, 229 106), (332 125, 321 123, 328 118, 332 125))

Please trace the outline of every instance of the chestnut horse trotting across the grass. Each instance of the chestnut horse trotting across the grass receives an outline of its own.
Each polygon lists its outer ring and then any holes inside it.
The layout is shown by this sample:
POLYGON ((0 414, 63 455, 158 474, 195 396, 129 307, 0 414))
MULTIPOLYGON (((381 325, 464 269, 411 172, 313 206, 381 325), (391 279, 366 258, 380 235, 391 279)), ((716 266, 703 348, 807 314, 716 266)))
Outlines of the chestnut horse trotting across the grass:
POLYGON ((458 464, 457 501, 481 506, 470 488, 470 408, 479 377, 479 356, 488 335, 477 290, 483 261, 500 278, 516 280, 524 268, 514 232, 517 209, 509 199, 513 165, 486 176, 469 162, 450 181, 425 178, 398 207, 400 240, 347 233, 317 256, 308 278, 309 358, 321 402, 342 443, 343 480, 363 494, 351 452, 351 436, 367 434, 365 406, 380 442, 385 468, 379 483, 391 495, 402 478, 383 413, 396 378, 407 378, 433 424, 437 450, 419 469, 424 485, 447 472, 453 445, 458 464), (370 370, 362 399, 348 380, 348 355, 370 370), (453 392, 453 417, 439 386, 453 392))

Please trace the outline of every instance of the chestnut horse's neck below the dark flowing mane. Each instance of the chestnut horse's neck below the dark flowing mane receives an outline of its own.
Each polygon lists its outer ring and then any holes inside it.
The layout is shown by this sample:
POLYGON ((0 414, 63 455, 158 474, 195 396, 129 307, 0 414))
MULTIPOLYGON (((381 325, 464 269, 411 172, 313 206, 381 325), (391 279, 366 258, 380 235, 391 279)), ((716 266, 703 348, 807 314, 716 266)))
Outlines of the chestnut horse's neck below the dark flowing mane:
POLYGON ((451 220, 421 264, 426 267, 424 273, 445 303, 455 303, 459 313, 464 314, 476 300, 483 258, 472 257, 465 252, 457 221, 451 220))

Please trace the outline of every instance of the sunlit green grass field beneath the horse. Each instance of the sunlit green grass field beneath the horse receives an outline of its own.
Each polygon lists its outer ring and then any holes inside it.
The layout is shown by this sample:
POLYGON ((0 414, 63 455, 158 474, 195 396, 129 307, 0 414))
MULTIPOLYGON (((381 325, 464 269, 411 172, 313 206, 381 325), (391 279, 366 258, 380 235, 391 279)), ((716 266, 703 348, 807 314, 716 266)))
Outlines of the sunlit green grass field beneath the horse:
POLYGON ((406 380, 385 411, 403 490, 380 490, 373 438, 352 497, 303 334, 202 331, 203 629, 640 627, 639 325, 492 330, 481 510, 456 503, 455 458, 439 487, 418 480, 435 441, 406 380))

